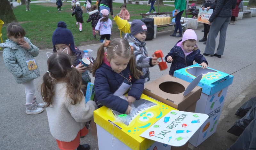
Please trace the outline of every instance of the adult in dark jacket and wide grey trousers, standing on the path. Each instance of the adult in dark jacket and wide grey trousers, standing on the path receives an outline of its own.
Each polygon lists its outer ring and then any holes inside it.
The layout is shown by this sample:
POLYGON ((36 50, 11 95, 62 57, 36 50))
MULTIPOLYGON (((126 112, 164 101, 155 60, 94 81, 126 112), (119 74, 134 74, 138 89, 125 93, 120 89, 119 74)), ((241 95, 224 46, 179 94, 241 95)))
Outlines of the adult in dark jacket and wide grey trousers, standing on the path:
POLYGON ((236 7, 236 0, 218 0, 217 5, 209 19, 209 24, 211 25, 208 40, 206 42, 206 47, 204 50, 204 56, 216 56, 221 58, 224 53, 225 42, 226 42, 226 32, 228 28, 228 22, 232 16, 232 9, 236 7), (220 40, 215 51, 215 39, 220 32, 220 40))

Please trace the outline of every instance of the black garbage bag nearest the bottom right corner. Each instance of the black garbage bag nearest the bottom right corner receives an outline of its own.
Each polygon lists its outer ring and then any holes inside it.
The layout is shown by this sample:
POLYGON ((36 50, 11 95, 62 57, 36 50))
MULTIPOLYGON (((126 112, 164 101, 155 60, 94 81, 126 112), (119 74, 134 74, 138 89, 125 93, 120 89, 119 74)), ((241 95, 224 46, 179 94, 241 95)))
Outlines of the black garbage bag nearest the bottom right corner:
POLYGON ((244 132, 228 150, 256 149, 256 118, 245 128, 244 132))

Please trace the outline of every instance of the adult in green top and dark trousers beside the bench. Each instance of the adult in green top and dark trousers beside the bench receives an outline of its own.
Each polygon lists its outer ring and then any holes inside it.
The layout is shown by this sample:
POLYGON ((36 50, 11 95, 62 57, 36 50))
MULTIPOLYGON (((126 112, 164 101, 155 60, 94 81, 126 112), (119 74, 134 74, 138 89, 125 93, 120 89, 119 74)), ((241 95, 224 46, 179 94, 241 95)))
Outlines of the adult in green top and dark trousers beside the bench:
POLYGON ((175 25, 174 33, 171 34, 170 36, 182 37, 182 28, 181 28, 180 19, 181 19, 182 13, 184 12, 184 10, 186 10, 186 0, 175 0, 174 6, 175 6, 174 15, 175 15, 176 25, 175 25), (178 29, 180 31, 180 34, 176 36, 178 29))

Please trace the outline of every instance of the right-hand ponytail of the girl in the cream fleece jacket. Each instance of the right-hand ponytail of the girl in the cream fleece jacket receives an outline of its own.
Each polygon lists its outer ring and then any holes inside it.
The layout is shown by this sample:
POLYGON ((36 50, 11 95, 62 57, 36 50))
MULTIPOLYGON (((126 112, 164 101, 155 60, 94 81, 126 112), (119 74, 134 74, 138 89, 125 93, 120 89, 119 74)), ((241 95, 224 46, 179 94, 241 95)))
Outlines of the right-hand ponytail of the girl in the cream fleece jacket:
POLYGON ((84 95, 81 92, 82 87, 82 78, 78 70, 75 67, 71 67, 71 70, 68 71, 67 76, 67 95, 70 99, 73 99, 73 102, 70 102, 72 105, 76 105, 77 102, 80 102, 84 95))

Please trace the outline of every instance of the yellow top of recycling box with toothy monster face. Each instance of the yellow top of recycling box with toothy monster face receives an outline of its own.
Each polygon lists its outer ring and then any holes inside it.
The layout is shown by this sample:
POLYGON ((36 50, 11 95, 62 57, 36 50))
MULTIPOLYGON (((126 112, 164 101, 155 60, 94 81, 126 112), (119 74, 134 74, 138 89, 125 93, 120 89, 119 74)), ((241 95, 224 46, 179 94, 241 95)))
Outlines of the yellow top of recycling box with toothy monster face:
POLYGON ((142 138, 140 135, 171 110, 177 109, 151 99, 144 94, 141 95, 140 100, 135 101, 134 105, 136 107, 145 103, 152 105, 138 110, 134 116, 131 116, 132 120, 128 124, 116 121, 115 115, 118 112, 112 111, 105 106, 93 112, 94 122, 131 149, 147 150, 155 141, 142 138))

